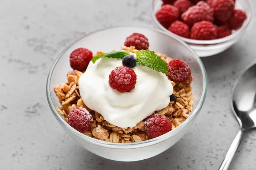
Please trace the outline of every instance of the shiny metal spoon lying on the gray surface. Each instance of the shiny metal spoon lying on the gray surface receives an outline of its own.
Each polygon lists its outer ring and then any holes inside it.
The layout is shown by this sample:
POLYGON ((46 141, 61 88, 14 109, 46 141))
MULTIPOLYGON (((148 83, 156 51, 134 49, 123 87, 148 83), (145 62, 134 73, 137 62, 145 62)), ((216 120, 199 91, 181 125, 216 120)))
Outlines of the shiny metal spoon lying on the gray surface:
POLYGON ((234 85, 231 106, 240 124, 240 130, 219 170, 229 169, 244 134, 256 127, 256 64, 248 68, 234 85))

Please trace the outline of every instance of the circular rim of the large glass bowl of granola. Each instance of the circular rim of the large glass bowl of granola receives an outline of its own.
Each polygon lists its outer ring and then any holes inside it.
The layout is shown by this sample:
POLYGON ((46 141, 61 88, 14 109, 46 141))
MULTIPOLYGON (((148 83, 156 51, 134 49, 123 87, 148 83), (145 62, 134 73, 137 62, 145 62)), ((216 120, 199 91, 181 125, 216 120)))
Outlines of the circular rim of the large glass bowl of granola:
MULTIPOLYGON (((138 26, 138 25, 120 25, 120 26, 111 26, 111 27, 107 27, 107 28, 101 28, 98 29, 96 31, 92 31, 89 34, 86 34, 85 36, 81 37, 80 39, 74 41, 73 43, 71 43, 70 45, 67 46, 67 48, 65 48, 59 55, 58 57, 55 59, 55 61, 52 64, 52 67, 50 68, 48 77, 47 77, 47 85, 46 85, 46 92, 47 92, 47 101, 49 104, 49 107, 53 113, 53 115, 55 116, 55 118, 58 120, 58 122, 61 124, 61 126, 63 128, 65 128, 68 131, 71 131, 76 137, 78 137, 81 140, 85 140, 86 142, 90 142, 91 144, 96 144, 102 147, 108 147, 108 148, 115 148, 115 149, 131 149, 131 148, 139 148, 139 147, 146 147, 149 145, 153 145, 153 144, 157 144, 159 142, 163 142, 169 138, 171 138, 172 136, 174 136, 176 133, 179 133, 180 130, 183 127, 186 127, 186 125, 188 125, 190 122, 192 122, 192 120, 196 119, 196 117, 198 116, 203 103, 206 99, 206 95, 207 95, 207 74, 204 68, 204 65, 201 61, 201 59, 198 57, 198 55, 195 53, 195 51, 192 50, 192 48, 189 47, 189 45, 187 45, 185 42, 183 42, 182 40, 178 39, 177 37, 173 37, 172 35, 166 34, 166 32, 161 31, 159 29, 156 28, 152 28, 152 27, 148 27, 148 26, 138 26), (198 101, 198 105, 194 108, 194 110, 192 111, 192 113, 190 114, 190 116, 188 117, 188 119, 186 119, 181 125, 179 125, 178 127, 176 127, 174 130, 163 134, 162 136, 159 136, 157 138, 154 139, 149 139, 146 141, 142 141, 142 142, 134 142, 134 143, 111 143, 111 142, 105 142, 105 141, 101 141, 98 139, 94 139, 91 138, 89 136, 84 135, 83 133, 80 133, 79 131, 75 130, 73 127, 71 127, 70 125, 67 124, 67 122, 64 121, 64 119, 62 118, 62 116, 58 113, 57 109, 55 108, 53 101, 52 101, 52 96, 51 96, 51 89, 50 89, 50 84, 51 84, 51 77, 52 77, 52 73, 54 71, 55 65, 58 63, 58 60, 63 56, 63 54, 72 46, 74 45, 76 42, 79 42, 80 40, 84 39, 85 37, 88 37, 92 34, 95 34, 97 32, 101 32, 101 31, 105 31, 108 29, 116 29, 116 28, 144 28, 144 29, 148 29, 150 31, 155 31, 158 32, 160 34, 164 34, 167 37, 171 37, 175 40, 177 40, 178 42, 180 42, 182 45, 184 45, 186 48, 188 48, 188 50, 192 53, 192 55, 195 57, 195 60, 198 62, 201 72, 202 72, 202 77, 203 77, 203 89, 202 89, 202 93, 200 96, 200 99, 198 101)), ((64 129, 64 130, 65 130, 64 129)))

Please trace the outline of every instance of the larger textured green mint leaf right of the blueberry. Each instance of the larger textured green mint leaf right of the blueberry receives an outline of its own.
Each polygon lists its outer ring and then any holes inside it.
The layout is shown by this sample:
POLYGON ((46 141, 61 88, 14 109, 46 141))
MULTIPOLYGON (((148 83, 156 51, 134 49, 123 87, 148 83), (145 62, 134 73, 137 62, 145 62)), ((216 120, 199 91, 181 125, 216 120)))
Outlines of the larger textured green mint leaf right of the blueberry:
POLYGON ((139 65, 145 65, 155 71, 169 74, 167 63, 154 54, 154 51, 140 50, 136 52, 136 60, 139 65))

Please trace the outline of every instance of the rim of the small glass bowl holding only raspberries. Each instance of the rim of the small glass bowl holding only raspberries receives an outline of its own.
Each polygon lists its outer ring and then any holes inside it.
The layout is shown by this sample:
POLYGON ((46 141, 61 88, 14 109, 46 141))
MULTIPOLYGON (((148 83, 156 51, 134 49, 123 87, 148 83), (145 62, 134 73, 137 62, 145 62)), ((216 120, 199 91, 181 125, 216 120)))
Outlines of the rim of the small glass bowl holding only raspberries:
POLYGON ((219 39, 215 39, 215 40, 192 40, 189 38, 184 38, 181 37, 177 34, 172 33, 171 31, 169 31, 168 29, 164 28, 157 20, 157 18, 155 17, 155 13, 154 13, 154 2, 157 0, 151 0, 151 4, 150 4, 150 14, 151 14, 151 20, 153 21, 154 25, 156 25, 158 28, 160 28, 161 30, 167 32, 167 34, 171 34, 174 37, 178 37, 181 40, 189 43, 189 44, 194 44, 194 45, 215 45, 215 44, 219 44, 219 43, 224 43, 224 42, 228 42, 230 40, 235 39, 239 34, 241 34, 242 31, 244 31, 245 28, 248 27, 248 25, 250 24, 250 21, 252 20, 252 7, 251 7, 251 3, 249 0, 239 0, 237 2, 241 3, 241 4, 245 4, 247 3, 247 6, 249 8, 249 11, 246 11, 247 14, 247 19, 245 20, 245 22, 243 23, 243 26, 241 28, 239 28, 238 30, 236 30, 236 32, 232 33, 231 35, 224 37, 224 38, 219 38, 219 39))

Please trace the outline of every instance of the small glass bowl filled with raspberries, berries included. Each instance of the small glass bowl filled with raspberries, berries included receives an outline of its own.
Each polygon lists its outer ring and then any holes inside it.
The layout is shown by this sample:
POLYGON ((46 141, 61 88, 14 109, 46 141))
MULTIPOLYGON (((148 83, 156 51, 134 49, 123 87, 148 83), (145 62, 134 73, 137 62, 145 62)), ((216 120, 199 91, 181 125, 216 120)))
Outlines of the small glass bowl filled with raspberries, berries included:
POLYGON ((156 28, 179 37, 199 57, 221 53, 245 34, 252 17, 249 0, 152 0, 156 28))

